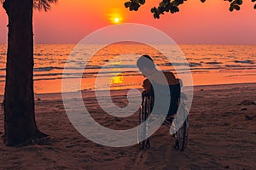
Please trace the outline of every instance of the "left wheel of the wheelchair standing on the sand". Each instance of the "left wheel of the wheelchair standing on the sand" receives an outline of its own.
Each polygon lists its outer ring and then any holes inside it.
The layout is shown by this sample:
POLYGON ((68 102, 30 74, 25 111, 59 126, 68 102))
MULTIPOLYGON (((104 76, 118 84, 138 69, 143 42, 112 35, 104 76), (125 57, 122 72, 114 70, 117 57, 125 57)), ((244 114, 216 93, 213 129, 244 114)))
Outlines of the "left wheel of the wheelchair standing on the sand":
MULTIPOLYGON (((143 104, 140 107, 140 113, 139 113, 139 122, 138 122, 139 125, 147 120, 149 113, 150 113, 150 101, 147 95, 143 95, 143 104)), ((148 128, 147 123, 138 128, 137 135, 138 135, 138 144, 139 144, 140 150, 150 147, 149 139, 148 138, 146 139, 147 128, 148 128), (140 141, 141 139, 144 139, 144 140, 140 141)))

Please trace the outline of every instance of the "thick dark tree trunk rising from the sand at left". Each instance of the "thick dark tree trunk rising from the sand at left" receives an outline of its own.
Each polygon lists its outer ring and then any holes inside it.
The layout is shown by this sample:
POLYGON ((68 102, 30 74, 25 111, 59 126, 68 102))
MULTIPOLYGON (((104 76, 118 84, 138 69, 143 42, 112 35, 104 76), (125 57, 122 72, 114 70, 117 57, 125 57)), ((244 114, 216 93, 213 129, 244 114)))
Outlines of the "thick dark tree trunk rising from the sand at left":
POLYGON ((5 0, 9 17, 4 92, 4 143, 17 145, 44 136, 35 122, 32 0, 5 0))

